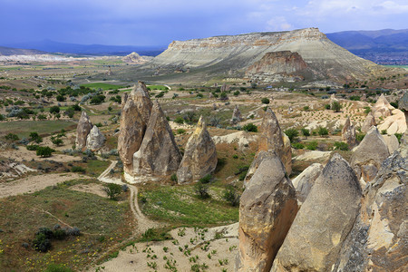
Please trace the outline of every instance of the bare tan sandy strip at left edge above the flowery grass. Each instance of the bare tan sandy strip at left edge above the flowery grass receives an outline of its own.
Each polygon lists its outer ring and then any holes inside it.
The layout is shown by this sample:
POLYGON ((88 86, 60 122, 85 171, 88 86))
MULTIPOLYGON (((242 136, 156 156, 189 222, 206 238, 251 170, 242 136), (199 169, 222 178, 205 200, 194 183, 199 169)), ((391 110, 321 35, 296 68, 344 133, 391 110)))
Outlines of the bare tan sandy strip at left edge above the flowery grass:
POLYGON ((83 175, 74 173, 54 173, 30 176, 21 180, 14 180, 0 184, 0 199, 44 189, 66 180, 85 179, 83 175))

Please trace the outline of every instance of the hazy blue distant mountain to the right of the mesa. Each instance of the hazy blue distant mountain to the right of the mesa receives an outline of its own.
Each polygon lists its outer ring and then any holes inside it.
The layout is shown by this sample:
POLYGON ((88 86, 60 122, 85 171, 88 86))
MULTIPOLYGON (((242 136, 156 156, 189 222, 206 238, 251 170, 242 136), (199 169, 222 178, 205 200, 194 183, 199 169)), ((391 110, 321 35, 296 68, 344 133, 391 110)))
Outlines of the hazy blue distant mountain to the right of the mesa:
POLYGON ((408 29, 344 31, 326 34, 351 53, 380 64, 408 64, 408 29))

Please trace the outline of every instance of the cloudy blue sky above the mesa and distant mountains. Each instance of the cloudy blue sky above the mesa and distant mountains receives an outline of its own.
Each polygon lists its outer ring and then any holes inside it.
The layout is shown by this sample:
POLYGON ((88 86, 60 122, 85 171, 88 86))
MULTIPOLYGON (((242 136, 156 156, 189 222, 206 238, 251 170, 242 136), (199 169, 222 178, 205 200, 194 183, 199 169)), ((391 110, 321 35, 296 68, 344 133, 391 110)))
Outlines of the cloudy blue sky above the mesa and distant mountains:
POLYGON ((167 45, 318 27, 408 28, 407 0, 0 0, 0 44, 167 45))

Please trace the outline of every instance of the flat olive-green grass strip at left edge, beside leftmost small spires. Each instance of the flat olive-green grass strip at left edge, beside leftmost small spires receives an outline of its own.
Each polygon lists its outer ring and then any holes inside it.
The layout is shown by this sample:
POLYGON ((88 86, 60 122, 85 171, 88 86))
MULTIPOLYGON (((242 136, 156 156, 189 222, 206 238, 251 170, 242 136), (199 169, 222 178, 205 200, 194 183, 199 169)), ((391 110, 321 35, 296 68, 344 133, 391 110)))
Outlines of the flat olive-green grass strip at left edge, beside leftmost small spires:
POLYGON ((30 132, 38 132, 40 135, 49 135, 54 132, 65 130, 70 131, 76 127, 73 121, 8 121, 0 122, 0 137, 4 137, 8 133, 15 133, 18 137, 27 138, 30 132))

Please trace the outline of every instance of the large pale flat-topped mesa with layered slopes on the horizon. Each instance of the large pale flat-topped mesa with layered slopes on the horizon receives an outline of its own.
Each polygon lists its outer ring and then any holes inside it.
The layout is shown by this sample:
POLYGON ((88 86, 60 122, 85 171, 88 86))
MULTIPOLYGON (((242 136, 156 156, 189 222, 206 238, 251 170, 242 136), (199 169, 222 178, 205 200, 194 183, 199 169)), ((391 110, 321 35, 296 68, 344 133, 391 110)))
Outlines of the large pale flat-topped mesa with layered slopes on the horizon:
MULTIPOLYGON (((314 71, 311 75, 314 79, 352 79, 384 69, 332 43, 317 28, 175 41, 149 64, 154 67, 190 67, 191 71, 196 67, 210 67, 214 72, 228 70, 228 73, 242 75, 266 53, 282 51, 297 53, 304 63, 300 64, 299 61, 296 65, 301 68, 306 63, 314 71)), ((293 65, 292 68, 288 66, 280 67, 279 70, 293 70, 293 65)))

